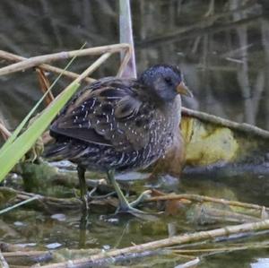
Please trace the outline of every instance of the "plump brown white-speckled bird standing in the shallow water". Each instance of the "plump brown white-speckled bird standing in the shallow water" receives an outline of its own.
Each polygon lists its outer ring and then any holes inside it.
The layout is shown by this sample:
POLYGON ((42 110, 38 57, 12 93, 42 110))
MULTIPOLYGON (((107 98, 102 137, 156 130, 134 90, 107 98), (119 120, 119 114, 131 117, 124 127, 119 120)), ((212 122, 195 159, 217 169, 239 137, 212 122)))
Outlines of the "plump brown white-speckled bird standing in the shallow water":
POLYGON ((153 65, 137 79, 105 77, 78 91, 55 121, 47 157, 77 164, 87 209, 86 169, 106 172, 117 212, 143 213, 126 200, 115 172, 145 169, 178 140, 180 95, 192 97, 175 65, 153 65))

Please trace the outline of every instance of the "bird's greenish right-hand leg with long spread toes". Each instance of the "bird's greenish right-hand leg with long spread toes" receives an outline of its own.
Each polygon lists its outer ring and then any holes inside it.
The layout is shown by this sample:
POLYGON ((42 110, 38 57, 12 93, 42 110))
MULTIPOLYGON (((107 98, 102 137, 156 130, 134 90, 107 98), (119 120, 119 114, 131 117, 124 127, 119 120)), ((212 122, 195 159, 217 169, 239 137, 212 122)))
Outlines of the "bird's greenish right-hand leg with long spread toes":
POLYGON ((137 213, 145 213, 133 207, 134 205, 137 205, 139 202, 143 201, 143 199, 145 198, 144 193, 138 197, 137 201, 134 201, 133 203, 128 203, 128 201, 126 200, 126 196, 122 193, 120 187, 117 184, 117 181, 114 176, 114 170, 111 169, 108 170, 108 180, 112 184, 117 193, 119 201, 117 212, 129 212, 134 215, 137 213))

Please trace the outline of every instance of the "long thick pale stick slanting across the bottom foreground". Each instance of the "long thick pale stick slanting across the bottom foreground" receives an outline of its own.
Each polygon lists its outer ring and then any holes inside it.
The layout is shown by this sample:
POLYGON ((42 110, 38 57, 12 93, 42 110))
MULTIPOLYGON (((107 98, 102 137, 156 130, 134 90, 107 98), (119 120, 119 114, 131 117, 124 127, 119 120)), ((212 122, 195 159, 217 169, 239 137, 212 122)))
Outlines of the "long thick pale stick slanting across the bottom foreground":
POLYGON ((75 259, 73 261, 58 263, 58 264, 48 264, 42 266, 43 268, 67 268, 67 267, 82 267, 82 265, 92 265, 97 264, 100 260, 104 258, 116 257, 117 255, 126 255, 131 253, 140 253, 143 251, 153 250, 166 246, 182 245, 190 242, 201 241, 205 239, 219 238, 223 236, 230 236, 231 234, 238 234, 242 232, 256 231, 262 229, 269 229, 269 220, 263 220, 259 222, 239 224, 235 226, 227 226, 225 228, 213 229, 208 231, 200 231, 192 234, 185 234, 181 236, 175 236, 172 238, 165 238, 161 240, 156 240, 153 242, 148 242, 141 245, 128 246, 121 249, 115 249, 107 251, 106 253, 101 253, 97 255, 91 255, 91 257, 75 259))

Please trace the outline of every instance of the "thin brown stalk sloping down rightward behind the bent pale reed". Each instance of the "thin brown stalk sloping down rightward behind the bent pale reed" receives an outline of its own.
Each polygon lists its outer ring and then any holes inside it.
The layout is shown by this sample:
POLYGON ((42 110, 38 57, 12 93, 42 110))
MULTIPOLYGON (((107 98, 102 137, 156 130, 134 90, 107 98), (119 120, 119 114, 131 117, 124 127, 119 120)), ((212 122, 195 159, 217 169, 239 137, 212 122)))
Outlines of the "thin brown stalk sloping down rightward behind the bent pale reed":
MULTIPOLYGON (((5 60, 13 61, 13 62, 21 62, 21 61, 27 59, 27 57, 18 56, 18 55, 15 55, 13 53, 6 52, 6 51, 3 51, 3 50, 0 50, 0 58, 4 58, 5 60)), ((66 71, 64 69, 61 69, 61 68, 58 68, 58 67, 55 67, 55 66, 52 66, 52 65, 46 65, 46 64, 39 65, 39 68, 43 69, 45 71, 48 71, 48 72, 65 75, 66 77, 68 77, 68 78, 70 78, 72 80, 79 77, 78 73, 73 73, 73 72, 70 72, 70 71, 66 71)), ((84 81, 91 83, 91 82, 94 82, 95 79, 90 78, 90 77, 85 77, 84 81)))

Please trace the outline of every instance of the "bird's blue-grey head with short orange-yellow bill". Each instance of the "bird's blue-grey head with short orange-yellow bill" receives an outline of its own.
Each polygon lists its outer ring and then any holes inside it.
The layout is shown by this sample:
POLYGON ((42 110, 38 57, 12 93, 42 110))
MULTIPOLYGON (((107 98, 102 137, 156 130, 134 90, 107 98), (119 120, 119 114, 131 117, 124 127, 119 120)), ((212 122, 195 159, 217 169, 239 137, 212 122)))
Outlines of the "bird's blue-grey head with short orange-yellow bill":
POLYGON ((165 101, 175 99, 178 94, 193 97, 192 92, 188 90, 182 79, 180 70, 176 66, 154 65, 141 74, 140 81, 165 101))

